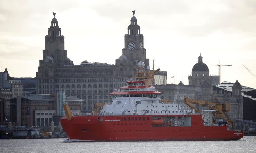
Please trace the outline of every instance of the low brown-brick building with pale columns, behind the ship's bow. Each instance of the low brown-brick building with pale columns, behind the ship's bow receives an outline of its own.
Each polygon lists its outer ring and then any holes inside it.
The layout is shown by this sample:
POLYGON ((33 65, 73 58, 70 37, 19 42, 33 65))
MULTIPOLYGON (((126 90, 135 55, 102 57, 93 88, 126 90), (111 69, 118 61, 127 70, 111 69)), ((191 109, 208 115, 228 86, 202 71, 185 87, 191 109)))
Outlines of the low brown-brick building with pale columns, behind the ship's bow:
MULTIPOLYGON (((22 126, 49 126, 54 118, 60 118, 55 117, 58 116, 57 97, 57 94, 30 94, 10 99, 10 121, 22 126)), ((74 115, 81 113, 82 99, 66 97, 66 101, 74 115)), ((58 125, 59 121, 55 122, 58 125)))

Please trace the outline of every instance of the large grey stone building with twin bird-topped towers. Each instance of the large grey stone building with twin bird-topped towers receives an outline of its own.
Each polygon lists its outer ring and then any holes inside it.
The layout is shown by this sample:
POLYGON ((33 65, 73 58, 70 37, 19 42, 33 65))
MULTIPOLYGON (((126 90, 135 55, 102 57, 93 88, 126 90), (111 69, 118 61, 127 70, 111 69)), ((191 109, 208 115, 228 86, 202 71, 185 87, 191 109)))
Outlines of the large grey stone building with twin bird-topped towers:
MULTIPOLYGON (((65 37, 54 17, 45 36, 43 59, 39 60, 36 73, 36 93, 51 94, 65 92, 66 96, 83 99, 82 113, 92 113, 93 104, 111 103, 109 93, 124 86, 135 74, 135 67, 141 60, 149 66, 137 18, 132 17, 124 35, 122 55, 115 65, 84 60, 74 65, 64 49, 65 37)), ((121 54, 121 53, 120 53, 121 54)))

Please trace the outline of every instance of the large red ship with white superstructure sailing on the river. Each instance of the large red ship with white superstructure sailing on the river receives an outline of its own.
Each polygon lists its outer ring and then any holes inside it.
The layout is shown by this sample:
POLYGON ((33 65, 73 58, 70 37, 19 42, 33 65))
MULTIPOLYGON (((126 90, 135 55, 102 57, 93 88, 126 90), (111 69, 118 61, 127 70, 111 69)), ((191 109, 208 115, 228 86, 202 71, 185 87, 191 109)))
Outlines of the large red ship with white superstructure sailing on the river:
POLYGON ((243 137, 243 131, 228 130, 228 124, 205 123, 195 110, 160 99, 151 85, 159 72, 144 70, 138 63, 134 80, 110 94, 98 116, 73 116, 68 105, 61 126, 69 139, 85 141, 227 141, 243 137))

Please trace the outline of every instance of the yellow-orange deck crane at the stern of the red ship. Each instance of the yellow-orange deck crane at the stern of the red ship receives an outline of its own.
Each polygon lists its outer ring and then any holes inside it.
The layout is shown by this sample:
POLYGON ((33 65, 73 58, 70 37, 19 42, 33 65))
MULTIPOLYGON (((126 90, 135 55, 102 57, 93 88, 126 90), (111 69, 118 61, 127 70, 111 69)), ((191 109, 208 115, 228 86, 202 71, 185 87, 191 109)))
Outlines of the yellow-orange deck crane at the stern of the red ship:
POLYGON ((229 125, 231 125, 232 129, 234 129, 233 120, 231 120, 227 114, 230 111, 230 103, 219 102, 217 99, 215 101, 203 101, 196 99, 188 99, 187 96, 184 95, 184 103, 189 107, 194 108, 196 113, 199 113, 199 110, 196 109, 192 104, 201 104, 203 106, 209 106, 212 110, 216 110, 216 112, 212 112, 212 115, 215 119, 223 119, 224 115, 226 117, 226 121, 229 125))

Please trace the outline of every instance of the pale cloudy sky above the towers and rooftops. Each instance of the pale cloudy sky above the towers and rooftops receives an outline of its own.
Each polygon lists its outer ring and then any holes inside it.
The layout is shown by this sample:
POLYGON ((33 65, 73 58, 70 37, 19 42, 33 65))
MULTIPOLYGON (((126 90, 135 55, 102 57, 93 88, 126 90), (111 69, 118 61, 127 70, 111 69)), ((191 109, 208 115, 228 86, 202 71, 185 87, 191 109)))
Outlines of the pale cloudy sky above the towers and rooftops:
MULTIPOLYGON (((168 83, 184 81, 201 52, 221 67, 221 81, 256 88, 256 1, 5 1, 0 0, 0 68, 12 77, 35 77, 44 37, 57 12, 65 49, 74 64, 114 64, 124 48, 132 10, 144 35, 147 58, 167 71, 168 83), (183 76, 183 78, 182 78, 183 76)), ((208 66, 218 74, 217 66, 208 66)))

